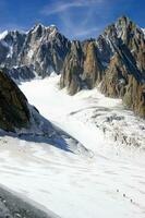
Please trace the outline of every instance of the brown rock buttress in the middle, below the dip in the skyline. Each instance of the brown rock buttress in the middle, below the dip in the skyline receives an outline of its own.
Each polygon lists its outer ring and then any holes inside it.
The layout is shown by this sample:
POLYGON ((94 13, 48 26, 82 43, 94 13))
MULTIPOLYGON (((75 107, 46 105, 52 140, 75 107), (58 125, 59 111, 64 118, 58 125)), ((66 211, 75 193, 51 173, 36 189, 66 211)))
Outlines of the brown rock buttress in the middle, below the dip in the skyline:
POLYGON ((73 41, 64 61, 60 87, 67 87, 71 95, 84 87, 93 88, 101 81, 102 71, 95 41, 73 41))

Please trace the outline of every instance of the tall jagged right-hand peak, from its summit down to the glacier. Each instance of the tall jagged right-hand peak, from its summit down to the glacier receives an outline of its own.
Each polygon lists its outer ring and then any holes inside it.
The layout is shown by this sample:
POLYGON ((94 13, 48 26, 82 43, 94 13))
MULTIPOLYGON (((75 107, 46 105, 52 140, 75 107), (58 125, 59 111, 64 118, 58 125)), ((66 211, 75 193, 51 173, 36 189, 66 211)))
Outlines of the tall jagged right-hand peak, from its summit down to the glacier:
MULTIPOLYGON (((105 71, 101 92, 120 97, 123 102, 145 118, 145 40, 143 32, 128 17, 113 25, 120 44, 105 71)), ((111 39, 110 39, 111 40, 111 39)))

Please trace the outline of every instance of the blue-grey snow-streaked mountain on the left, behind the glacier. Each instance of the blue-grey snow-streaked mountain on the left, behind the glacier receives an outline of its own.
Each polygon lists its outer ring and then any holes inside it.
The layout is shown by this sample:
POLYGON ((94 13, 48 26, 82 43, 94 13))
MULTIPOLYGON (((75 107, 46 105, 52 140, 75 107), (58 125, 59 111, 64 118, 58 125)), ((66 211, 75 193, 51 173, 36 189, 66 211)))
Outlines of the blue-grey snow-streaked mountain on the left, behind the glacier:
POLYGON ((4 32, 0 35, 0 65, 13 78, 44 77, 60 73, 69 48, 69 39, 53 25, 36 24, 27 33, 4 32))

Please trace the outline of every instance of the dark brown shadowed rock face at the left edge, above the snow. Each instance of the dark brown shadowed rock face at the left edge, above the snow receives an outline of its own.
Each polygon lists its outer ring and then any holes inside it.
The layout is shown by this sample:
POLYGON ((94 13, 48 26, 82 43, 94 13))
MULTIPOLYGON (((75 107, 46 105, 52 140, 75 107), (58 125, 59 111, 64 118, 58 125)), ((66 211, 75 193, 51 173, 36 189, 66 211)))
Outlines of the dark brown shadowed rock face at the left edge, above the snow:
POLYGON ((15 83, 0 71, 0 129, 14 131, 29 124, 27 100, 15 83))

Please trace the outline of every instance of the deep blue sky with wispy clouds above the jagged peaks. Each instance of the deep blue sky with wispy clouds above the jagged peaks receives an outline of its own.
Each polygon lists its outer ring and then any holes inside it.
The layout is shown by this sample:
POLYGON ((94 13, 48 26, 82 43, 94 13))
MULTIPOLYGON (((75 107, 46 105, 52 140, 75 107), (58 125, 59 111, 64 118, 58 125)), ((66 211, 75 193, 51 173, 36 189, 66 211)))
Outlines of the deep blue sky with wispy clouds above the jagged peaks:
POLYGON ((70 39, 97 37, 128 15, 145 27, 145 0, 0 0, 0 32, 55 24, 70 39))

